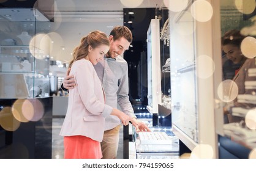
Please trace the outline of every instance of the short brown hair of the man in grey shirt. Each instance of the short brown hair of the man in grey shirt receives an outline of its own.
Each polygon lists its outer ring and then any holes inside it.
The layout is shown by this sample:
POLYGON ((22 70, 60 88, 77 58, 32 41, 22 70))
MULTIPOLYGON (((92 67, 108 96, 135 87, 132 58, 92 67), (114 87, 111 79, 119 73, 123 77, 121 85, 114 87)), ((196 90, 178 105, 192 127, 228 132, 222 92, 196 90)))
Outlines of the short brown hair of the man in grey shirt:
POLYGON ((132 32, 126 26, 116 26, 110 32, 110 35, 113 35, 114 41, 118 38, 124 37, 128 42, 132 43, 132 32))

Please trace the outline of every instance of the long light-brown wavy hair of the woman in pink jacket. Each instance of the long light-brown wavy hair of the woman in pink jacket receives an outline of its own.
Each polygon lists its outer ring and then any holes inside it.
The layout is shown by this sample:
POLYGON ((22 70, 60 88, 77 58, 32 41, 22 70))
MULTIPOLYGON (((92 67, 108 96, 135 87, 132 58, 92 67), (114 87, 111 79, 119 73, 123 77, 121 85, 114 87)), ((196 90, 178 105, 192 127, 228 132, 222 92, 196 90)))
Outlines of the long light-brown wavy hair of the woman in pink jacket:
POLYGON ((80 45, 73 49, 73 59, 69 62, 69 68, 73 62, 85 58, 88 55, 88 47, 96 48, 100 45, 110 45, 107 35, 101 31, 90 32, 86 37, 81 38, 80 45))

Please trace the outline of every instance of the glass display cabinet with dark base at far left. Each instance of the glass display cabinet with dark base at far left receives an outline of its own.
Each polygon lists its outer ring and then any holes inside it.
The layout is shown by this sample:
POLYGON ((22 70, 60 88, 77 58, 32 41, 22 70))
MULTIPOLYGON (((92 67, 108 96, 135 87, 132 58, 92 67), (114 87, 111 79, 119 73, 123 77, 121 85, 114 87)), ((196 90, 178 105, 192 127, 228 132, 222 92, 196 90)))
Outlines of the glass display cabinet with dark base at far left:
POLYGON ((37 9, 0 10, 0 158, 51 158, 49 23, 37 9))

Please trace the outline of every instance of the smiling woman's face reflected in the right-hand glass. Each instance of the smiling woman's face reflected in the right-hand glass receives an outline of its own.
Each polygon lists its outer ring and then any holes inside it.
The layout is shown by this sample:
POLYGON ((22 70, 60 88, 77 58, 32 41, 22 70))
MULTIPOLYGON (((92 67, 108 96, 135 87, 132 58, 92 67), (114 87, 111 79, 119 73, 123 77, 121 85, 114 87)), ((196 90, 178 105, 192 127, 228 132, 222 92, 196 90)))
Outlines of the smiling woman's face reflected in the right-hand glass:
POLYGON ((222 46, 222 49, 227 58, 232 60, 234 64, 239 64, 241 59, 243 59, 243 54, 238 46, 227 44, 222 46))

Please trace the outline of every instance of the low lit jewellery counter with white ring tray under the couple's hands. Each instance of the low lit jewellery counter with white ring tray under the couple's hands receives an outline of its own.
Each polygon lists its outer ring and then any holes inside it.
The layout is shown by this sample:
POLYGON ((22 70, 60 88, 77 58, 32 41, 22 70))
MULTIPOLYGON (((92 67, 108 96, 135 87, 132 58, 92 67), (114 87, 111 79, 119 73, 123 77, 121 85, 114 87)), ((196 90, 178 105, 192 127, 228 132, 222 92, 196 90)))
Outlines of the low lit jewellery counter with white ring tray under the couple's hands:
POLYGON ((137 133, 134 126, 129 125, 129 158, 138 159, 169 159, 179 158, 179 139, 173 134, 171 126, 153 126, 153 114, 137 113, 136 117, 140 122, 145 123, 151 132, 137 133), (152 134, 151 134, 152 133, 152 134), (142 140, 143 137, 149 136, 142 140), (165 137, 157 137, 164 134, 165 137), (168 136, 168 137, 167 137, 168 136), (153 139, 155 137, 155 139, 153 139))

